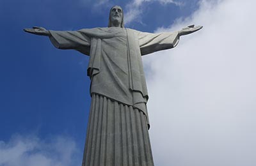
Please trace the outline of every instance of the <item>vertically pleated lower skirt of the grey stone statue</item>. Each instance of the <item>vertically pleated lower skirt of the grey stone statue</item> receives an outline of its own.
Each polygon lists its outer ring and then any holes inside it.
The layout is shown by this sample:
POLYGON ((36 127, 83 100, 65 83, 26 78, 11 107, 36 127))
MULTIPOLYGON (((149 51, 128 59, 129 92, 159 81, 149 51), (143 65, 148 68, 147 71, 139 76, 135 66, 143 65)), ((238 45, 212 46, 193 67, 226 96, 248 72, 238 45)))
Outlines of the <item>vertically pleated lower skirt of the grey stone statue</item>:
POLYGON ((92 94, 83 166, 154 166, 145 115, 92 94))

